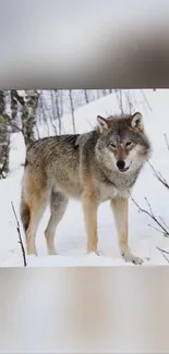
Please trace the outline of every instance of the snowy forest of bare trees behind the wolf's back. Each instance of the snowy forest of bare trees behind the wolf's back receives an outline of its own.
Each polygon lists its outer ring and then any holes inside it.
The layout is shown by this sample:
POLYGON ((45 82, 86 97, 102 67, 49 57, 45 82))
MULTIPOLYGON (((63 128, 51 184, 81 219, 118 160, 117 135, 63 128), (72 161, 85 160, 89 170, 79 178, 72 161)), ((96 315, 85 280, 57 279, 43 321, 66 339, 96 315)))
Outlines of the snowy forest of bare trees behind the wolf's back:
MULTIPOLYGON (((67 114, 71 114, 72 132, 75 133, 74 111, 112 93, 123 111, 123 94, 118 89, 0 90, 0 179, 9 172, 12 133, 22 133, 25 146, 39 137, 63 134, 67 114), (45 127, 43 133, 40 126, 45 127)), ((142 97, 148 106, 144 93, 142 97)), ((132 110, 130 93, 125 98, 129 110, 132 110)))

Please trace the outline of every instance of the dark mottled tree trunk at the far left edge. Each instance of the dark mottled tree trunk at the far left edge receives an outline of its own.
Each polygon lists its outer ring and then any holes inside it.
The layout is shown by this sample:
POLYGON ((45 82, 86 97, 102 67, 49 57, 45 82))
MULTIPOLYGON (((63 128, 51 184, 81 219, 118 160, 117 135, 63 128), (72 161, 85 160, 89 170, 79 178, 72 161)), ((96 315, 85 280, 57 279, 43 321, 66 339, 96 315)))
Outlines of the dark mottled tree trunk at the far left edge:
POLYGON ((5 119, 4 91, 0 90, 0 178, 9 172, 10 131, 5 119))

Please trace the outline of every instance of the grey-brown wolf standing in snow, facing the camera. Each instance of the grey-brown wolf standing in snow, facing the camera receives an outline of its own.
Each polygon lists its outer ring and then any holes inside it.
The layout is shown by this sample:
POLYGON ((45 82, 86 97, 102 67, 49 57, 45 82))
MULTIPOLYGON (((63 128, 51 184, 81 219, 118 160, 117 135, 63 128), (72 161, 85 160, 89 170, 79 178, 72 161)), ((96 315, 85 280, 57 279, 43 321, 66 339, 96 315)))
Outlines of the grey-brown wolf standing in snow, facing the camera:
POLYGON ((152 151, 143 115, 104 118, 84 134, 50 136, 34 142, 26 151, 21 193, 21 220, 27 254, 37 255, 35 236, 47 205, 45 230, 49 255, 56 255, 55 234, 69 199, 81 200, 87 253, 98 253, 97 211, 110 200, 119 249, 125 261, 143 259, 129 246, 129 198, 152 151))

